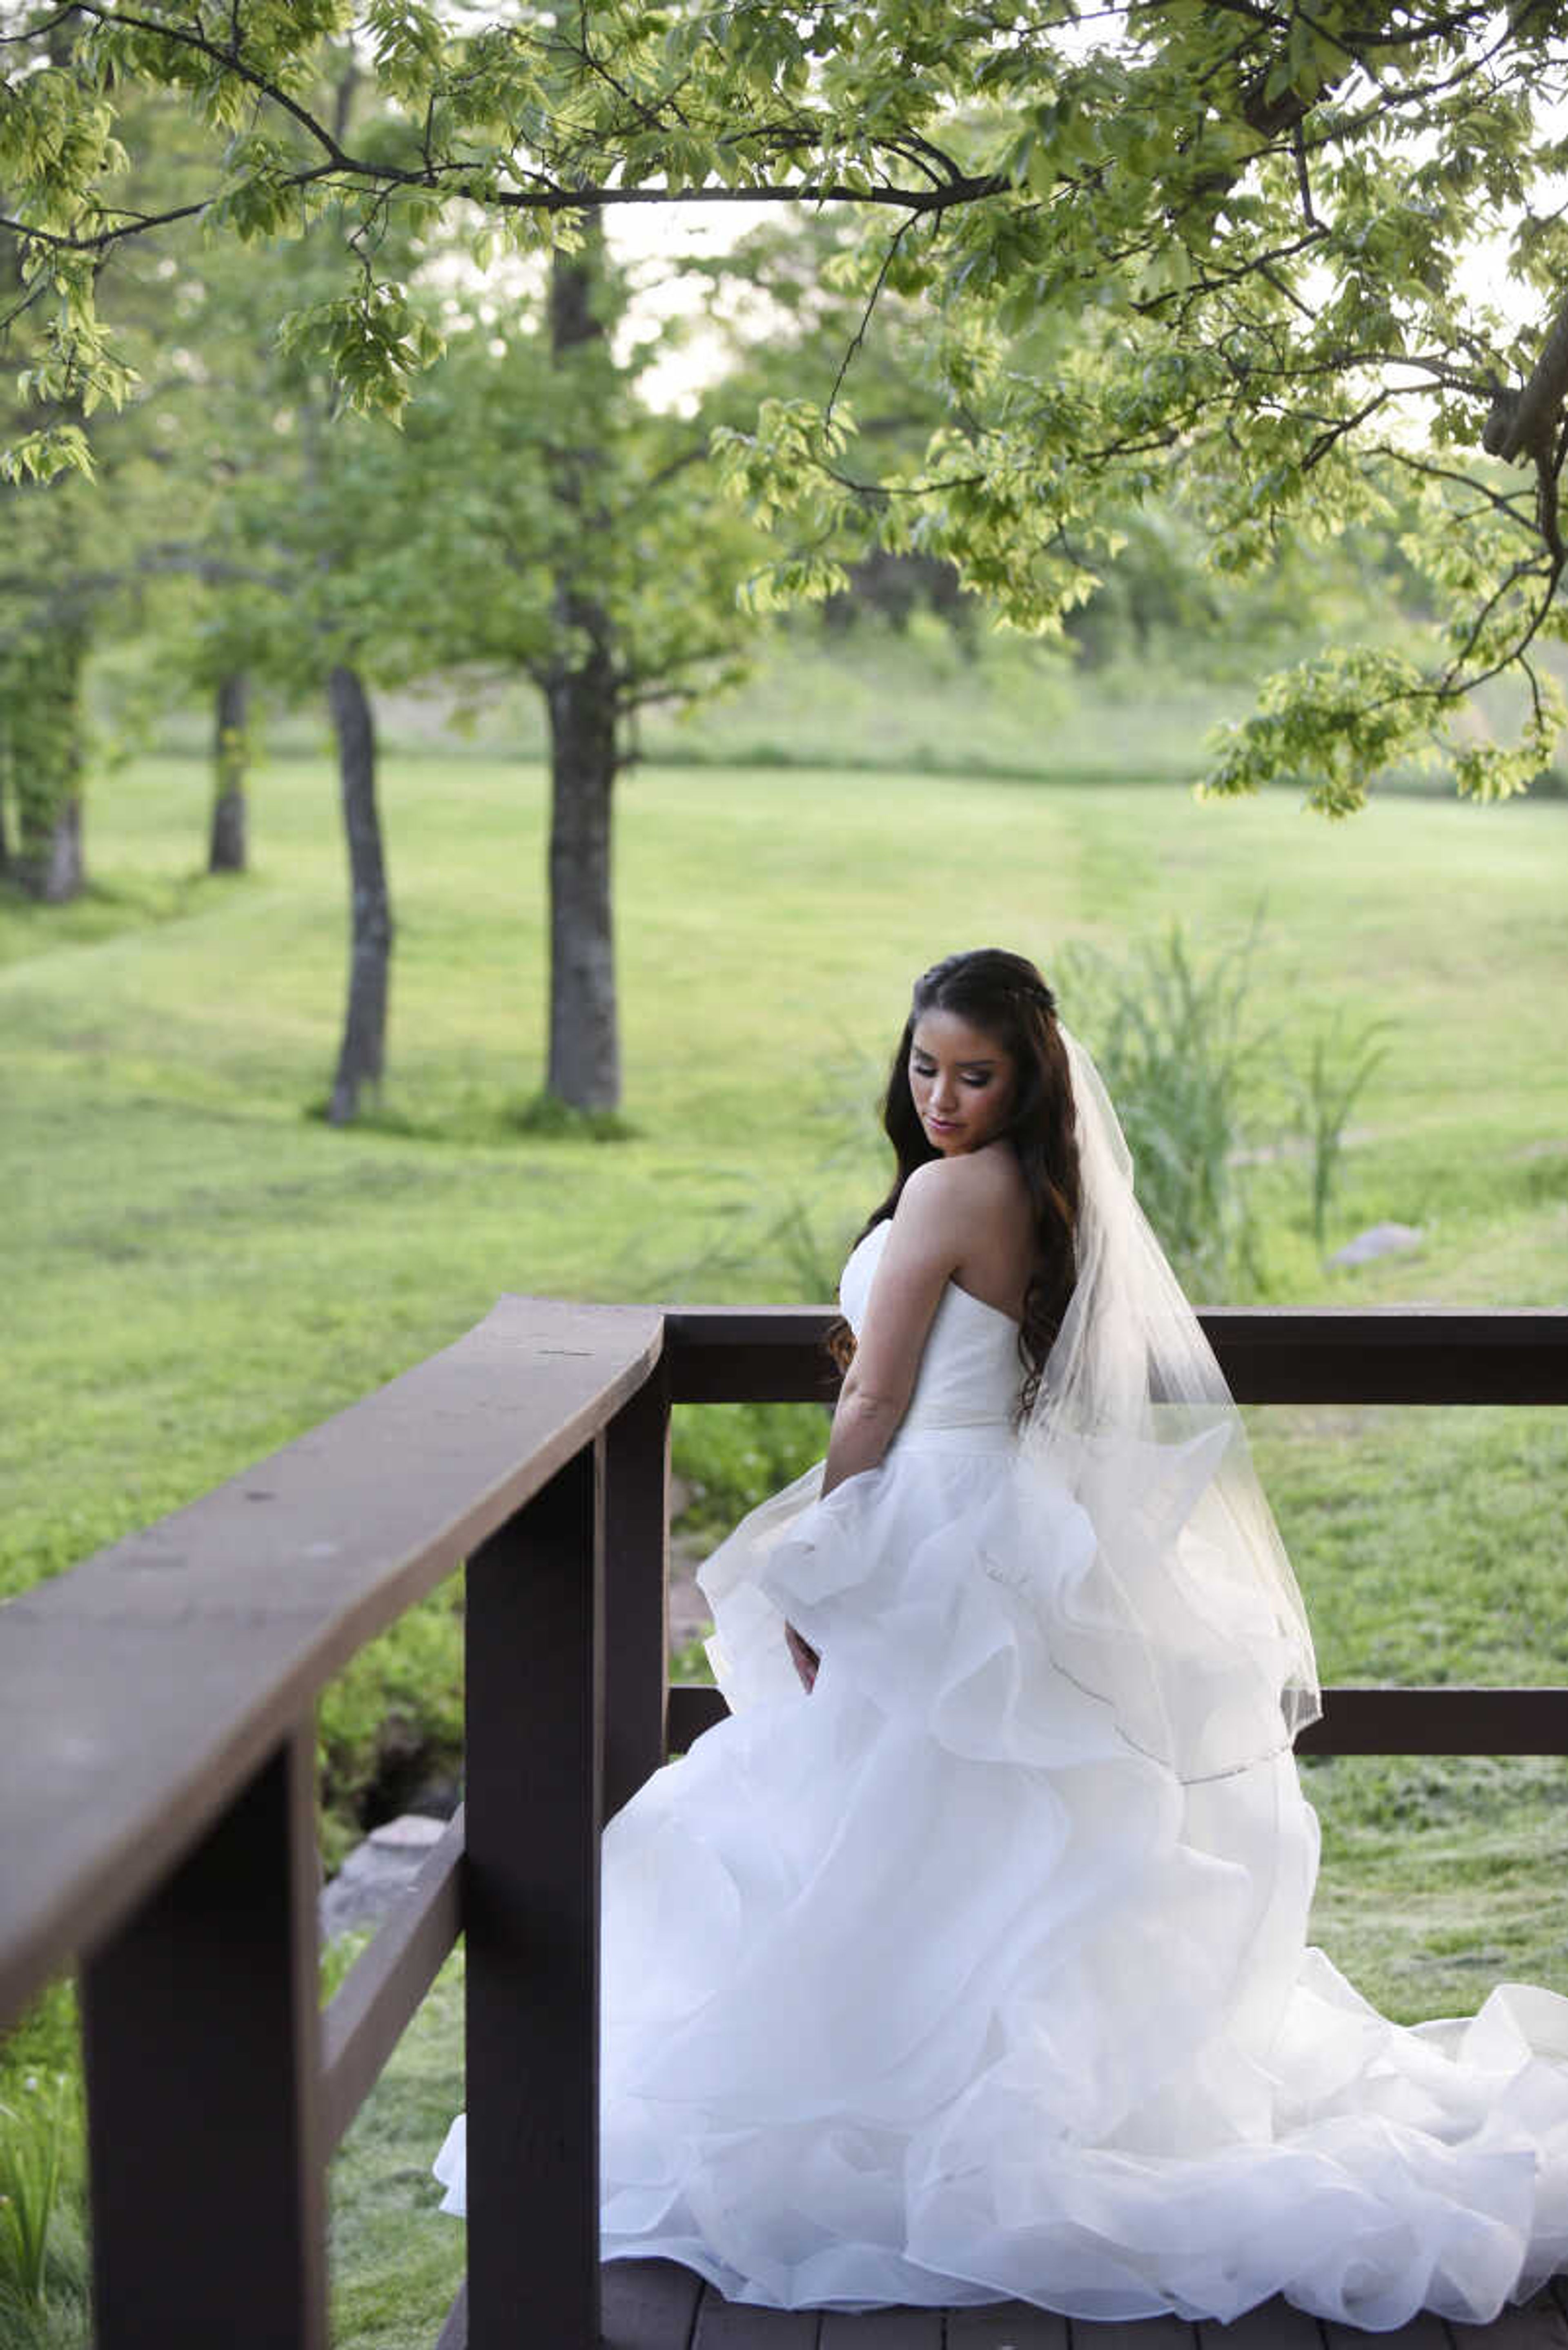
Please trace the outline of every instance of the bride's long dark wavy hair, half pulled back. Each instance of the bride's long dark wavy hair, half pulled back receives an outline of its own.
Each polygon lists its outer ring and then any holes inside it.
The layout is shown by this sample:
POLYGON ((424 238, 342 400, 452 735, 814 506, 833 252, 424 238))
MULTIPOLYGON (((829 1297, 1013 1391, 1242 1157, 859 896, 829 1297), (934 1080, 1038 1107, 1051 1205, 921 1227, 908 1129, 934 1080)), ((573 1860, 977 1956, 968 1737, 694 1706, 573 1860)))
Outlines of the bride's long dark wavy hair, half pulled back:
MULTIPOLYGON (((1023 1363, 1018 1417, 1023 1419, 1039 1391, 1039 1375, 1063 1325, 1077 1271, 1079 1144, 1067 1046, 1056 1025, 1056 996, 1027 956, 1006 954, 1001 947, 976 947, 922 971, 882 1102, 882 1126, 893 1144, 898 1173, 886 1198, 867 1215, 858 1241, 893 1213, 914 1168, 943 1156, 919 1123, 910 1093, 910 1043, 914 1025, 926 1013, 957 1013, 1013 1060, 1016 1093, 1001 1135, 1018 1154, 1034 1210, 1034 1253, 1039 1257, 1018 1325, 1018 1358, 1023 1363)), ((830 1328, 827 1349, 839 1370, 849 1368, 853 1332, 846 1321, 830 1328)))

